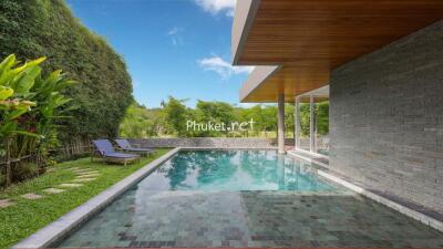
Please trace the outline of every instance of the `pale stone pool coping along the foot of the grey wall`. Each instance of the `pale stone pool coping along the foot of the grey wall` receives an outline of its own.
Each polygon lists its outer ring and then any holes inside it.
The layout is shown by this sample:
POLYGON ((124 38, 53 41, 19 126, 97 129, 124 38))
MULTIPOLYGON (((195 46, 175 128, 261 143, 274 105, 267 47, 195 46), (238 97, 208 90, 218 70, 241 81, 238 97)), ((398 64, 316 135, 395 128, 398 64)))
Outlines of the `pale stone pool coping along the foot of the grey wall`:
POLYGON ((404 205, 402 205, 402 204, 400 204, 398 201, 394 201, 394 200, 391 200, 391 199, 389 199, 387 197, 383 197, 382 195, 379 195, 379 194, 377 194, 374 191, 371 191, 371 190, 369 190, 369 189, 367 189, 367 188, 364 188, 362 186, 359 186, 358 184, 354 184, 354 183, 351 183, 351 181, 349 181, 347 179, 343 179, 343 177, 340 177, 337 174, 333 174, 333 172, 328 173, 329 170, 331 170, 329 166, 326 167, 326 166, 323 166, 322 164, 319 164, 316 160, 306 158, 303 156, 299 156, 298 154, 288 153, 288 155, 290 155, 292 157, 297 157, 297 158, 302 159, 302 160, 306 160, 306 162, 308 162, 310 164, 319 165, 320 167, 324 167, 326 170, 323 170, 321 168, 317 168, 317 173, 320 176, 322 176, 322 177, 324 177, 324 178, 327 178, 327 179, 329 179, 329 180, 331 180, 331 181, 333 181, 336 184, 339 184, 339 185, 341 185, 341 186, 343 186, 343 187, 346 187, 346 188, 348 188, 348 189, 350 189, 350 190, 352 190, 352 191, 354 191, 354 193, 357 193, 359 195, 362 195, 362 196, 364 196, 364 197, 367 197, 367 198, 369 198, 371 200, 374 200, 374 201, 377 201, 377 203, 379 203, 379 204, 381 204, 383 206, 387 206, 387 207, 389 207, 391 209, 394 209, 395 211, 399 211, 399 212, 401 212, 401 214, 403 214, 403 215, 405 215, 405 216, 408 216, 410 218, 413 218, 413 219, 415 219, 415 220, 418 220, 418 221, 420 221, 420 222, 422 222, 422 224, 424 224, 426 226, 430 226, 430 227, 443 232, 443 221, 441 221, 439 219, 435 219, 435 218, 433 218, 431 216, 427 216, 427 215, 425 215, 425 214, 423 214, 423 212, 421 212, 419 210, 414 210, 413 208, 406 207, 406 206, 404 206, 404 205))

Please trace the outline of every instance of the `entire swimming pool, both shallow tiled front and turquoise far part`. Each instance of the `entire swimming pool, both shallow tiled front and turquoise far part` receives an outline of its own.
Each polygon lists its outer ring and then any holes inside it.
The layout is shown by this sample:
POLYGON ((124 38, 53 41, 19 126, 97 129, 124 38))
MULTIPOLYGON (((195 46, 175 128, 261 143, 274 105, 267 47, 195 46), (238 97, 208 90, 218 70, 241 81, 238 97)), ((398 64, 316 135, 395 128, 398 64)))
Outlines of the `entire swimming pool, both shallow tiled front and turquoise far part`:
POLYGON ((59 247, 442 247, 443 235, 275 151, 182 151, 59 247))

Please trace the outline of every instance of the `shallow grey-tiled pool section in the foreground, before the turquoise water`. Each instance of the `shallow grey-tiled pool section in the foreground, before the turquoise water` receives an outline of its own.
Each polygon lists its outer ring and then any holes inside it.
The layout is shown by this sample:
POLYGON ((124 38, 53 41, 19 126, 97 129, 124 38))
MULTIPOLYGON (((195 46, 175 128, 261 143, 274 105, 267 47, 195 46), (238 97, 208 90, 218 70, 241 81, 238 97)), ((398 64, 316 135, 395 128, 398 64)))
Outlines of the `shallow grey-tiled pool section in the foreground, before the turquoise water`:
POLYGON ((443 234, 348 190, 132 189, 60 247, 443 247, 443 234))

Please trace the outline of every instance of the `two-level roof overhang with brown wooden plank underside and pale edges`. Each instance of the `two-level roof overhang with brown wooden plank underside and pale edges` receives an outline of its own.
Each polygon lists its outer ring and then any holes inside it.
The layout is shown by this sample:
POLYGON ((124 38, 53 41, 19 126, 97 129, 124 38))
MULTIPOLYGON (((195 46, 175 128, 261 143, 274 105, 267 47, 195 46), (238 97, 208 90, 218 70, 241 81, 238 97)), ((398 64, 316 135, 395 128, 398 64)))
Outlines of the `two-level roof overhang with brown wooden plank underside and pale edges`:
POLYGON ((441 19, 443 0, 239 0, 233 64, 259 65, 240 101, 285 93, 292 102, 327 85, 338 66, 441 19))

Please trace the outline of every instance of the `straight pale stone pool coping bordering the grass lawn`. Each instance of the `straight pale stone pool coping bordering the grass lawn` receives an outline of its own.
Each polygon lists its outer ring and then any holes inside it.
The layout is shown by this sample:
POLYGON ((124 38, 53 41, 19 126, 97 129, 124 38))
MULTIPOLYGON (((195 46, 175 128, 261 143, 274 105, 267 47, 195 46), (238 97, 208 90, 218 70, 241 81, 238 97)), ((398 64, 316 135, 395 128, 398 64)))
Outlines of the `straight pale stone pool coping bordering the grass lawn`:
POLYGON ((11 249, 47 248, 53 245, 54 242, 66 236, 70 231, 75 229, 78 226, 82 225, 84 221, 87 221, 92 216, 101 211, 109 204, 111 204, 123 193, 125 193, 128 188, 140 183, 143 178, 145 178, 158 166, 161 166, 163 163, 168 160, 182 149, 182 147, 171 149, 163 156, 146 164, 130 176, 123 178, 122 180, 106 188, 99 195, 92 197, 86 203, 64 214, 56 220, 39 229, 23 240, 19 241, 14 246, 12 246, 11 249))

